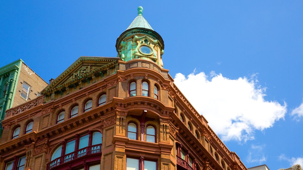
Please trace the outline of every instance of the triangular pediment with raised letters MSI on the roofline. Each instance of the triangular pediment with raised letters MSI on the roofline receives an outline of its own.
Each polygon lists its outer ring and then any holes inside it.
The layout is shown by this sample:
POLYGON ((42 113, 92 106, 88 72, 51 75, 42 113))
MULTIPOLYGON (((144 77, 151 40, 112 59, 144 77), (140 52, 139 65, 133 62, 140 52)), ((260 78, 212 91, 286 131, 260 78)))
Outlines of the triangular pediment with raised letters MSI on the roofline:
POLYGON ((80 57, 52 81, 42 94, 50 94, 117 64, 119 57, 80 57))

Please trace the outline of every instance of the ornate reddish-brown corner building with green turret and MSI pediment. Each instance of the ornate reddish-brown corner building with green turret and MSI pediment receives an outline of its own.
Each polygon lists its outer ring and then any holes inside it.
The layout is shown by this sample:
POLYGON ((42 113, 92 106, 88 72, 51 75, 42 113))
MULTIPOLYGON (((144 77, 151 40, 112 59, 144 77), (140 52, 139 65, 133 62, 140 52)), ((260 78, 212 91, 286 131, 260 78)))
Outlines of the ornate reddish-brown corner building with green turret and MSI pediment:
POLYGON ((247 170, 163 69, 142 10, 117 57, 80 57, 5 112, 0 170, 247 170))

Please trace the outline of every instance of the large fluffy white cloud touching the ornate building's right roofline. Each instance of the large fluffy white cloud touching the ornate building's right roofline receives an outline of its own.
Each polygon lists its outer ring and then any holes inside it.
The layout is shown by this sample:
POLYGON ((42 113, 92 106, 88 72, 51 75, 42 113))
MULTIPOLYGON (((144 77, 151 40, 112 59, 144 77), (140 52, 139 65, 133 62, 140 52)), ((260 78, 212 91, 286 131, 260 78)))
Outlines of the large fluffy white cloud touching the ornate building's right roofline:
POLYGON ((178 73, 175 84, 222 140, 254 139, 256 129, 284 119, 286 103, 264 100, 266 89, 256 84, 255 75, 231 80, 212 71, 210 76, 208 80, 204 72, 187 77, 178 73))

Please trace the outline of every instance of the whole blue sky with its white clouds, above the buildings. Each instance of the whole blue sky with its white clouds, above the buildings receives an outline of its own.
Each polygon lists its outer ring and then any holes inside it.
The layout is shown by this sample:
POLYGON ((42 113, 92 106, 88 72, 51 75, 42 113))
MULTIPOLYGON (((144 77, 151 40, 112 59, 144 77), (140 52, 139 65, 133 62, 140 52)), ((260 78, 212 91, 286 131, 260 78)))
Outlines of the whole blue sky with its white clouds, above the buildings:
POLYGON ((48 81, 80 56, 116 57, 138 6, 164 68, 246 167, 303 162, 303 1, 3 1, 0 65, 22 58, 48 81))

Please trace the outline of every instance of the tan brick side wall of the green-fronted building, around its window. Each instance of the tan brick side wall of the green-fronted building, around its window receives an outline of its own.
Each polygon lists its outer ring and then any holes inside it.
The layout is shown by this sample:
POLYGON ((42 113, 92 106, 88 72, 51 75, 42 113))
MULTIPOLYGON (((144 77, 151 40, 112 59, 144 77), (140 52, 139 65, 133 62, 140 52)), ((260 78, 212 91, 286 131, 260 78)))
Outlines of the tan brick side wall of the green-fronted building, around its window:
POLYGON ((47 85, 41 77, 39 77, 32 69, 30 69, 26 64, 22 63, 19 79, 16 82, 17 89, 14 97, 13 107, 18 106, 28 100, 35 99, 38 92, 41 92, 47 85), (21 91, 23 82, 30 85, 28 100, 21 97, 21 91))

